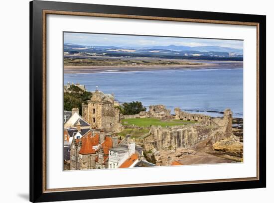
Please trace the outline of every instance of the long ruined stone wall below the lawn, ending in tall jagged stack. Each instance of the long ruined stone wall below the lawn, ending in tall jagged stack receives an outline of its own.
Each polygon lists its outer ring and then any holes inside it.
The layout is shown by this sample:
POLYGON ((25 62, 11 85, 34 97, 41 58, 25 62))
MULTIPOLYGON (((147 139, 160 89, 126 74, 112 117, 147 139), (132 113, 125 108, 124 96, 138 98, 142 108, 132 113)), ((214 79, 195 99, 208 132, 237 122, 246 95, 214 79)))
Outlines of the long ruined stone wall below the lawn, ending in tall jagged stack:
POLYGON ((173 127, 152 126, 149 133, 150 136, 143 141, 145 150, 189 148, 205 139, 214 144, 233 135, 232 112, 227 109, 224 117, 214 124, 196 123, 173 127))

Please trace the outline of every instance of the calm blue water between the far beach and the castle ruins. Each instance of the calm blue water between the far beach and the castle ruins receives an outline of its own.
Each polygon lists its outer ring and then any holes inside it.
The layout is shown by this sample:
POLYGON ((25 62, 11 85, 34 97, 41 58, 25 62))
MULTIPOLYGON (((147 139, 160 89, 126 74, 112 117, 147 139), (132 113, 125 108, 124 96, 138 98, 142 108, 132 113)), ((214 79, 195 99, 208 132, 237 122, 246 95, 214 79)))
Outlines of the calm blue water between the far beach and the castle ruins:
MULTIPOLYGON (((64 83, 73 82, 94 91, 114 93, 119 102, 140 101, 145 106, 164 104, 174 113, 183 110, 224 111, 243 117, 243 69, 162 70, 93 74, 64 74, 64 83)), ((211 116, 219 113, 201 112, 211 116)))

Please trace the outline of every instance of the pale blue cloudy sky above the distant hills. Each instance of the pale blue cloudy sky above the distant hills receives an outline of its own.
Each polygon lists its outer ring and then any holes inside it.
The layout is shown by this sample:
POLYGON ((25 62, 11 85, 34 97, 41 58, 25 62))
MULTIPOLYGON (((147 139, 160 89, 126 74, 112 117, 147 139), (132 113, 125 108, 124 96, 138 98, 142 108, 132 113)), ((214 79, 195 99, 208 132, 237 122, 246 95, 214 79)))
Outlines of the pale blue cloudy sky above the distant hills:
POLYGON ((64 33, 64 43, 91 46, 221 46, 243 49, 242 40, 223 40, 223 39, 197 39, 181 37, 154 37, 154 36, 134 36, 134 35, 114 35, 114 34, 90 34, 90 33, 64 33))

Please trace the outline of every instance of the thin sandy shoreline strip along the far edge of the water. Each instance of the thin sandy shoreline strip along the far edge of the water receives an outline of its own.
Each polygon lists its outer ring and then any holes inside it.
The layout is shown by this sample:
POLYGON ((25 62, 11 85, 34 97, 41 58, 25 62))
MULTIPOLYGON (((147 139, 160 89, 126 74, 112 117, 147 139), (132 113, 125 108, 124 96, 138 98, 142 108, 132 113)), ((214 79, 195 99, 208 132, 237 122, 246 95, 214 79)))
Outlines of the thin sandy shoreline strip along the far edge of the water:
POLYGON ((192 70, 192 69, 239 69, 243 63, 214 62, 199 65, 150 65, 150 66, 65 66, 64 74, 98 73, 98 72, 133 72, 133 71, 158 71, 158 70, 192 70))

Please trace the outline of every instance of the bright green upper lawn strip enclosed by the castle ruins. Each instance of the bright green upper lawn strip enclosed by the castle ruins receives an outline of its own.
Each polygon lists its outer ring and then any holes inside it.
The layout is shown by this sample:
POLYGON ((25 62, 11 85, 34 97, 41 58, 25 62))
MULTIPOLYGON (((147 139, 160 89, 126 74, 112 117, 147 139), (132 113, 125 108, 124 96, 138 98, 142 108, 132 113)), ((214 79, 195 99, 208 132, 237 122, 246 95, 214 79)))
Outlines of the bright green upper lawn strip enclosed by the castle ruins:
POLYGON ((174 126, 174 125, 186 125, 190 123, 196 123, 195 121, 187 121, 187 120, 170 120, 170 121, 162 121, 157 118, 129 118, 122 120, 123 125, 136 125, 139 127, 149 127, 150 125, 160 125, 162 127, 165 126, 174 126))

